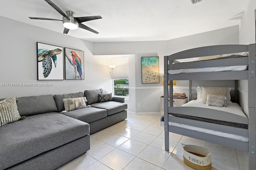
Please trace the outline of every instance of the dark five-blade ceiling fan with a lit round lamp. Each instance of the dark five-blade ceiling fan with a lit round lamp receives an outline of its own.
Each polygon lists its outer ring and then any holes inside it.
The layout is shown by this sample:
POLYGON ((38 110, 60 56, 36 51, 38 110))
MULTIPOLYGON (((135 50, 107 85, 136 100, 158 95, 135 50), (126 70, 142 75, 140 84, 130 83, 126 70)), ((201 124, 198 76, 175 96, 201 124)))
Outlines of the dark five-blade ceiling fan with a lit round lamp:
POLYGON ((66 14, 65 14, 52 1, 50 1, 50 0, 45 0, 45 1, 48 4, 50 4, 50 6, 52 6, 52 8, 54 8, 56 11, 58 11, 63 16, 62 20, 56 20, 56 19, 52 19, 52 18, 38 18, 38 17, 28 17, 28 18, 34 19, 34 20, 62 21, 63 26, 65 27, 64 31, 63 31, 64 34, 67 34, 70 29, 77 29, 78 27, 98 34, 97 31, 95 31, 94 29, 91 29, 90 27, 87 27, 86 25, 82 24, 82 22, 101 19, 102 18, 101 16, 74 17, 75 16, 74 12, 66 11, 66 14))

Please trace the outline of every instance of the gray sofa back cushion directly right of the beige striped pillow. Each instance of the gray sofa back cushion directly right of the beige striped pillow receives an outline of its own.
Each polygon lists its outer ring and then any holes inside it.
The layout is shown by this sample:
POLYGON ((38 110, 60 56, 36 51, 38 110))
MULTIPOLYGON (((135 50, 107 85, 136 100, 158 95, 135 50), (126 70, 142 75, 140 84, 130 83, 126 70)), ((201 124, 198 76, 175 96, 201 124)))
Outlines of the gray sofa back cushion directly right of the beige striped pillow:
POLYGON ((31 116, 57 111, 52 94, 20 97, 18 98, 17 107, 20 116, 31 116))

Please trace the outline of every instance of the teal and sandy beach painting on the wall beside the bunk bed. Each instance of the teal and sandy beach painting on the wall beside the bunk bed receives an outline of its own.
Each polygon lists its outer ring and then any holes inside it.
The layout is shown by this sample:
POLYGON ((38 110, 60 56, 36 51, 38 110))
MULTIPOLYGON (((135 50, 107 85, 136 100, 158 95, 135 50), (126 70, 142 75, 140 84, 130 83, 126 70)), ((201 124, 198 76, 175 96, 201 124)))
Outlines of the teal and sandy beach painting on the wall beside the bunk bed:
POLYGON ((141 57, 142 84, 159 83, 159 57, 141 57))

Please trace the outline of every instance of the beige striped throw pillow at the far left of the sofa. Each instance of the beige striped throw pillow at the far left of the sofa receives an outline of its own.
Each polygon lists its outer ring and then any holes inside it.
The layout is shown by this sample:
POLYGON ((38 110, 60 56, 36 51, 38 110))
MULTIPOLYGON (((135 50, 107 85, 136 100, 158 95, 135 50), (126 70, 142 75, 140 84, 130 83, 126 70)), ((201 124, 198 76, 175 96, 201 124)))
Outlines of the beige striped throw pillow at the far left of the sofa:
POLYGON ((20 119, 17 110, 16 97, 10 97, 0 102, 0 126, 17 121, 20 119))

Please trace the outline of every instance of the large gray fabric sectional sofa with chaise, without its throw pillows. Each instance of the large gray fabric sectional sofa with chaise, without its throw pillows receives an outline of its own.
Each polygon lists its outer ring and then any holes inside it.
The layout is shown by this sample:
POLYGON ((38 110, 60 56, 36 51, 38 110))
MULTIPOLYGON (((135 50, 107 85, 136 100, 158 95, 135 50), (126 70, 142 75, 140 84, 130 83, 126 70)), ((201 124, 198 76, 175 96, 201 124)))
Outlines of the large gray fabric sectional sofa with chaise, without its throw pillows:
MULTIPOLYGON (((18 98, 25 119, 0 127, 0 170, 53 170, 90 149, 90 134, 127 118, 124 98, 99 103, 101 90, 18 98), (64 98, 91 107, 60 113, 64 98)), ((2 99, 3 100, 3 99, 2 99)))

